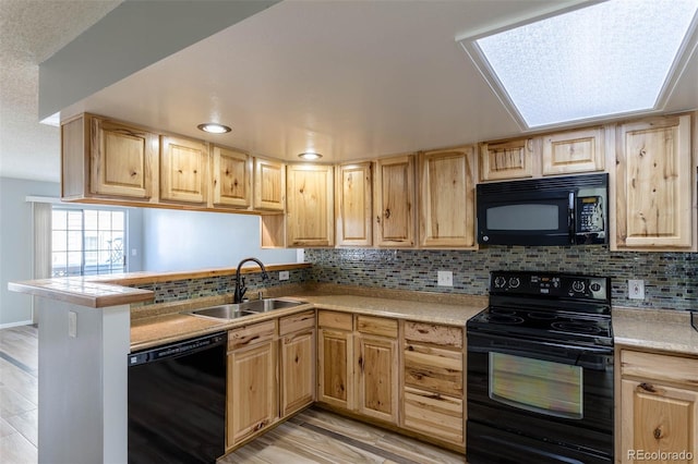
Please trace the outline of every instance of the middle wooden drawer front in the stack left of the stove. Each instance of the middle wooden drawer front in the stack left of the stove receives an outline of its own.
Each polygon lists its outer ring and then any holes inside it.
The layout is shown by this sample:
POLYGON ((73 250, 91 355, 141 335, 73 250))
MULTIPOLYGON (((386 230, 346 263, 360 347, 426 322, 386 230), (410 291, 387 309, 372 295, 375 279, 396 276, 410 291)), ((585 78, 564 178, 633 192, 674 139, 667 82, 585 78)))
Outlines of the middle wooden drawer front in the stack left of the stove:
POLYGON ((462 353, 426 346, 405 346, 405 384, 462 399, 462 353))

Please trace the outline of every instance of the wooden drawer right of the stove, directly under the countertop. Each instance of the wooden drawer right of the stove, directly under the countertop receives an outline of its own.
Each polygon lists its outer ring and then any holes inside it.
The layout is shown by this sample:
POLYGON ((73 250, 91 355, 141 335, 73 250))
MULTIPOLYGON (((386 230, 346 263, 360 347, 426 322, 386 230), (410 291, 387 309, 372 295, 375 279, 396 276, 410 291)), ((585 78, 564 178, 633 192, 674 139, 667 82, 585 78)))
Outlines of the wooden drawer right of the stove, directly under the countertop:
POLYGON ((623 350, 621 374, 698 388, 698 359, 696 358, 623 350))

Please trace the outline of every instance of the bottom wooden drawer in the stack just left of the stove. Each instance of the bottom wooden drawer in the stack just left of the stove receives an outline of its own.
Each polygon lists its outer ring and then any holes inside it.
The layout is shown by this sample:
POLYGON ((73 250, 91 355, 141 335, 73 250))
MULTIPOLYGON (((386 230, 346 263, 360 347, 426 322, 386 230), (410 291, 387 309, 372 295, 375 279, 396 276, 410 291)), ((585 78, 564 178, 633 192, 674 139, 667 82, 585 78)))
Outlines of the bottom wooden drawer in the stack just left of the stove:
POLYGON ((406 428, 464 444, 462 400, 406 388, 404 413, 406 428))

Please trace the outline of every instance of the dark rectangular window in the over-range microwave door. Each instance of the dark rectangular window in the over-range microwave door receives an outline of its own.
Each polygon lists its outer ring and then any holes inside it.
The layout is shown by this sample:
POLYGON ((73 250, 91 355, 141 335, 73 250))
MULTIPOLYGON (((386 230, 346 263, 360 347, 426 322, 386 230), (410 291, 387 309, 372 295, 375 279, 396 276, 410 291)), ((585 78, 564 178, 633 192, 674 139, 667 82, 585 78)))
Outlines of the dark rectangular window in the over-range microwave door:
POLYGON ((493 206, 488 208, 488 229, 493 231, 556 231, 559 207, 549 204, 493 206))

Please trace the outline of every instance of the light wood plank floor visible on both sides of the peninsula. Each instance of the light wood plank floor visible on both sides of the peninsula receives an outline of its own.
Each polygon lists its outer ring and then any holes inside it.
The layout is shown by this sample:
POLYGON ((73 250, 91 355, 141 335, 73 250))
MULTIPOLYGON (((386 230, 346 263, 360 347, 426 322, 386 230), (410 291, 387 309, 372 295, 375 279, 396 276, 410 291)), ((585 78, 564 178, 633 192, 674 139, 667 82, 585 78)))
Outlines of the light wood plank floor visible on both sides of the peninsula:
MULTIPOLYGON (((0 462, 36 464, 38 331, 0 330, 0 462)), ((465 456, 317 408, 219 460, 219 464, 464 463, 465 456)))

